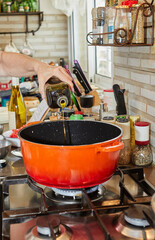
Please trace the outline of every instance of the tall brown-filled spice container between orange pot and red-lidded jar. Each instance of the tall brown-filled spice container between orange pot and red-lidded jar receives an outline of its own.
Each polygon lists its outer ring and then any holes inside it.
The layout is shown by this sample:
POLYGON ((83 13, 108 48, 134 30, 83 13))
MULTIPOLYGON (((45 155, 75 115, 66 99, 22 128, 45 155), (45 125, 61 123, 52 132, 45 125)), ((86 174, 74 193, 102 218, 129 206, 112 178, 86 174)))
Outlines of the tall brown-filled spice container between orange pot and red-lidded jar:
POLYGON ((131 161, 131 147, 130 147, 130 121, 127 118, 117 118, 116 125, 122 128, 122 142, 124 148, 120 151, 119 164, 126 165, 131 161))

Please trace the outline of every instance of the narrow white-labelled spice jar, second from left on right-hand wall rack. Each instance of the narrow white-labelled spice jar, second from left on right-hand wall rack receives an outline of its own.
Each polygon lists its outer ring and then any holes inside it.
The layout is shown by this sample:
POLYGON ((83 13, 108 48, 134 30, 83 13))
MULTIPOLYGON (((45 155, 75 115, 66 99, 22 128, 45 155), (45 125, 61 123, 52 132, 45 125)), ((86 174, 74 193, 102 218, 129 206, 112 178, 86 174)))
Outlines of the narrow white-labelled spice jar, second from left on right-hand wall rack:
MULTIPOLYGON (((103 34, 104 24, 105 24, 105 7, 98 7, 97 8, 97 33, 103 34)), ((97 44, 103 44, 103 35, 97 36, 97 44)))

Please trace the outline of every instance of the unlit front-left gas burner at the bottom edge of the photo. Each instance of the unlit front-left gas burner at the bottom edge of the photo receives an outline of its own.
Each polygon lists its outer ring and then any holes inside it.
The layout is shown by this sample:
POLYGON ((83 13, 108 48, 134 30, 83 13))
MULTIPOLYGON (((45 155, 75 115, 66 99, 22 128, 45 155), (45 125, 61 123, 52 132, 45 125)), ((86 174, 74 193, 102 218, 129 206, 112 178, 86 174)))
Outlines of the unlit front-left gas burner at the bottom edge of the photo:
POLYGON ((72 238, 71 230, 60 223, 57 216, 38 217, 36 225, 33 226, 25 235, 25 240, 41 240, 41 239, 70 240, 72 238))

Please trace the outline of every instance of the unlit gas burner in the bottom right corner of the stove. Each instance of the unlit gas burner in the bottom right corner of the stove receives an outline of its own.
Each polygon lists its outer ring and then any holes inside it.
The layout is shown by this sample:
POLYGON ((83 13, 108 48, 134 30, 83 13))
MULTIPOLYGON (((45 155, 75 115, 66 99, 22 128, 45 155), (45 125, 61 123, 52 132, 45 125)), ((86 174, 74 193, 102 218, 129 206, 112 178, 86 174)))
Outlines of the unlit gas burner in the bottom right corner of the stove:
POLYGON ((135 204, 124 211, 114 225, 117 232, 131 239, 155 239, 155 230, 147 221, 144 213, 153 219, 153 213, 149 206, 135 204))

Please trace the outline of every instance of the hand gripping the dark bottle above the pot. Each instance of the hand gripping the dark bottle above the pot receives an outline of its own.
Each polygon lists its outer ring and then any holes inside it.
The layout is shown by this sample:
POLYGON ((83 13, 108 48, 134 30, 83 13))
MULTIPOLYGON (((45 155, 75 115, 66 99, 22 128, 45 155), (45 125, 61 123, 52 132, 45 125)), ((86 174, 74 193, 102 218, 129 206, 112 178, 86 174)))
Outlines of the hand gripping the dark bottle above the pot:
POLYGON ((72 78, 63 67, 60 66, 55 67, 50 66, 46 63, 42 63, 39 66, 37 74, 39 81, 39 92, 43 98, 45 97, 44 96, 45 83, 53 76, 59 78, 62 82, 66 82, 71 87, 71 90, 74 91, 72 78))

